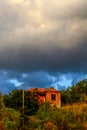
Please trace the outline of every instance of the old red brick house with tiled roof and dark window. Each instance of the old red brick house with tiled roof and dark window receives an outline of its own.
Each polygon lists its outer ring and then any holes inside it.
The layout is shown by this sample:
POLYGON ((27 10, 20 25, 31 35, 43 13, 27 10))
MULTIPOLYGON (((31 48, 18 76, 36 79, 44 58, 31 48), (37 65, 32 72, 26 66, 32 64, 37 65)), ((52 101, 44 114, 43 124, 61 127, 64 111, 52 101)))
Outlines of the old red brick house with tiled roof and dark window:
POLYGON ((49 102, 52 106, 61 106, 61 93, 54 88, 31 88, 29 92, 35 93, 38 103, 49 102))

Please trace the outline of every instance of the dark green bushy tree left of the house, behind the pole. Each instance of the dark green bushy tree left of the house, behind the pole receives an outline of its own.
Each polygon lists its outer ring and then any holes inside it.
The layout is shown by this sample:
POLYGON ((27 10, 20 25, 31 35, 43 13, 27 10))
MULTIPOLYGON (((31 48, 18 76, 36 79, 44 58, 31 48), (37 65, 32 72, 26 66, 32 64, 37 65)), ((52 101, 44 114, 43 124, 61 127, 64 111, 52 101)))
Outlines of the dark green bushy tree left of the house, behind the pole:
MULTIPOLYGON (((38 110, 37 99, 29 92, 24 92, 24 95, 24 113, 27 115, 35 114, 38 110)), ((6 107, 23 112, 22 90, 13 90, 10 94, 4 96, 3 101, 6 107)))

